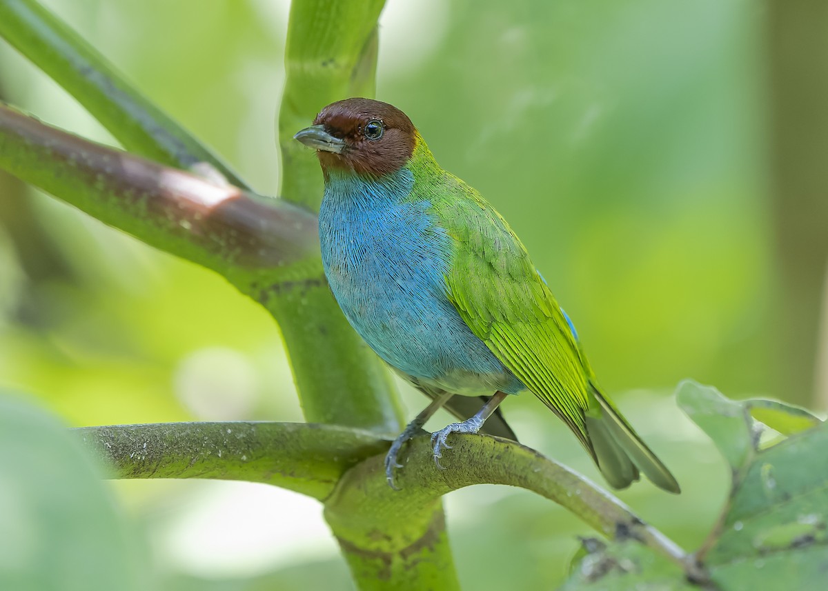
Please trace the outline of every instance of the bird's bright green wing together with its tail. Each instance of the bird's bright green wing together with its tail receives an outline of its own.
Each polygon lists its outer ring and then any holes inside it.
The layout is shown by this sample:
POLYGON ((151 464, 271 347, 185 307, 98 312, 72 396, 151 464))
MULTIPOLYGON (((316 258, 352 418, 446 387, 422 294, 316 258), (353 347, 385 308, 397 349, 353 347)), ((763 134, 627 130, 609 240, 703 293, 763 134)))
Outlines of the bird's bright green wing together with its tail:
POLYGON ((445 283, 469 329, 570 426, 611 486, 629 486, 640 469, 658 487, 681 492, 670 470, 599 392, 561 307, 508 223, 448 173, 431 204, 455 240, 445 283))

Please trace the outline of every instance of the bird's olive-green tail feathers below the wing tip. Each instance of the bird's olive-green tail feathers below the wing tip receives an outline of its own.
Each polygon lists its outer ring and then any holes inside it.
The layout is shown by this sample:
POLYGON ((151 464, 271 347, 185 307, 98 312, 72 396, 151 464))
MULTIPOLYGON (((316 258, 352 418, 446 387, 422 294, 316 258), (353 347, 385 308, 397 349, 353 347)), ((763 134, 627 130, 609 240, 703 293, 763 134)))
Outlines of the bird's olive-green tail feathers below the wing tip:
POLYGON ((633 427, 621 416, 590 382, 597 406, 586 412, 586 430, 590 435, 598 468, 613 488, 627 488, 638 480, 639 470, 658 488, 681 492, 667 466, 652 453, 633 427))

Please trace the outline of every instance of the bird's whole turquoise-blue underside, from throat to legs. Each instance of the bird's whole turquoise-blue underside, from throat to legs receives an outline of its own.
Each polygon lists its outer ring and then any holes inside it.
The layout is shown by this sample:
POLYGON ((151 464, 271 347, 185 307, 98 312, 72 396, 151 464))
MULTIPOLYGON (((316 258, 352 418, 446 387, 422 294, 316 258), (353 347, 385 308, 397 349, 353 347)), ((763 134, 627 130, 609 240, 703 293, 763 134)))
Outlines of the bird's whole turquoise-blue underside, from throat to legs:
POLYGON ((448 388, 448 379, 460 392, 460 382, 490 377, 484 390, 522 390, 446 297, 451 238, 428 201, 408 199, 413 183, 407 169, 378 180, 329 175, 320 242, 339 306, 381 358, 416 382, 448 388))

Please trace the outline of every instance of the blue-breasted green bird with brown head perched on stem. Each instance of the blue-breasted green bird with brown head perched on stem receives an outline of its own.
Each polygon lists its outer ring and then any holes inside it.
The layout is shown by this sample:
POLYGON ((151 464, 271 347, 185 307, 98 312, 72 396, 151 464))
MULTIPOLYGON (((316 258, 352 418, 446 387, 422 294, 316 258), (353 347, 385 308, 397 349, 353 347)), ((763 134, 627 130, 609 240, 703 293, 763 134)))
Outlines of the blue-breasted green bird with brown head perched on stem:
MULTIPOLYGON (((681 492, 599 388, 575 326, 526 247, 477 190, 444 171, 392 104, 351 98, 294 136, 325 180, 319 234, 325 276, 345 317, 407 382, 430 396, 385 458, 392 488, 402 446, 451 400, 460 422, 431 435, 438 468, 449 437, 486 430, 508 396, 532 392, 572 430, 612 488, 643 473, 681 492), (479 411, 469 416, 470 403, 479 411)), ((504 426, 505 425, 505 426, 504 426)))

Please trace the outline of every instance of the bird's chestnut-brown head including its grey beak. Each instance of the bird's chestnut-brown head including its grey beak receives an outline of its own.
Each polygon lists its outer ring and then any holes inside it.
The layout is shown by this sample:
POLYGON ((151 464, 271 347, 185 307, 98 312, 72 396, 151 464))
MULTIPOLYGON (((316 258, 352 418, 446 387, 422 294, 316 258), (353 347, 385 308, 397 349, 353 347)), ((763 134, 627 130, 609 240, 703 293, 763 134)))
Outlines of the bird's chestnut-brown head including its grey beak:
POLYGON ((372 99, 345 99, 323 108, 294 137, 315 148, 323 171, 344 169, 382 176, 411 158, 416 129, 405 113, 372 99))

